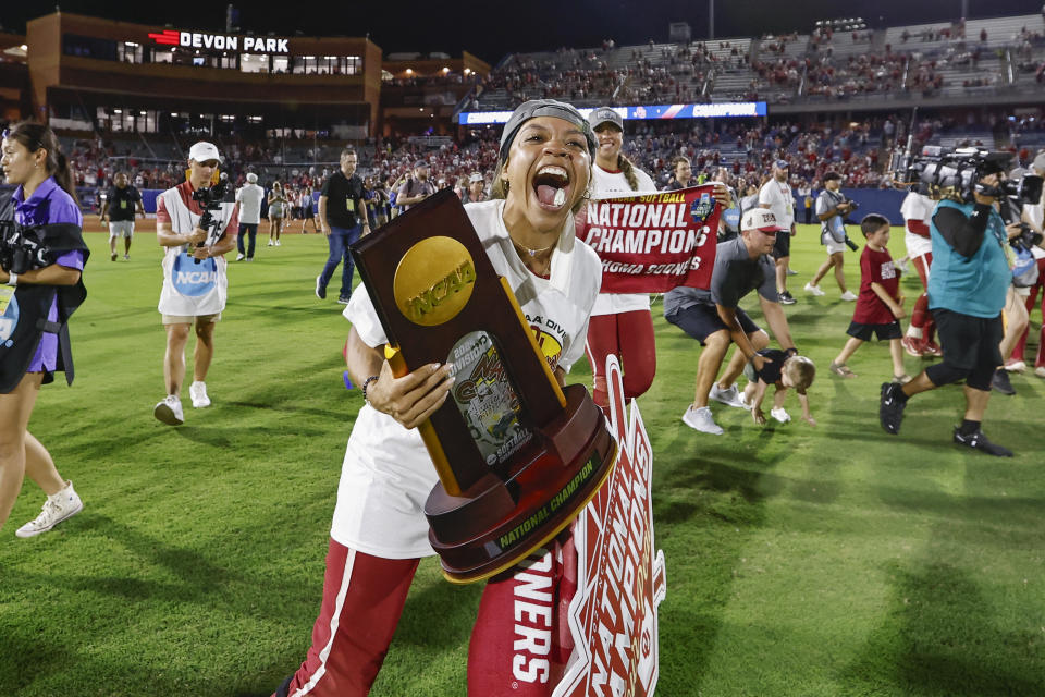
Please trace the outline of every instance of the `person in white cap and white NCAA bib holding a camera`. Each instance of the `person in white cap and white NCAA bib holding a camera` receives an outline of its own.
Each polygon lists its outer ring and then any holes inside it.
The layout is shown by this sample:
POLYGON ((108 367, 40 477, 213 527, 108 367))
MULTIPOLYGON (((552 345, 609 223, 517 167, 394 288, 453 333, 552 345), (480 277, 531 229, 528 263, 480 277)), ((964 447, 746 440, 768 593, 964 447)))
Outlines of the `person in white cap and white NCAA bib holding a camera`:
POLYGON ((167 396, 152 415, 171 426, 184 423, 181 391, 185 378, 185 343, 196 326, 193 406, 210 406, 207 370, 214 355, 214 325, 225 308, 229 289, 224 254, 236 245, 238 207, 231 195, 211 208, 213 227, 199 227, 204 209, 193 193, 211 186, 221 156, 212 143, 199 142, 188 150, 188 180, 169 188, 157 199, 156 236, 164 247, 163 290, 159 310, 167 329, 163 381, 167 396))

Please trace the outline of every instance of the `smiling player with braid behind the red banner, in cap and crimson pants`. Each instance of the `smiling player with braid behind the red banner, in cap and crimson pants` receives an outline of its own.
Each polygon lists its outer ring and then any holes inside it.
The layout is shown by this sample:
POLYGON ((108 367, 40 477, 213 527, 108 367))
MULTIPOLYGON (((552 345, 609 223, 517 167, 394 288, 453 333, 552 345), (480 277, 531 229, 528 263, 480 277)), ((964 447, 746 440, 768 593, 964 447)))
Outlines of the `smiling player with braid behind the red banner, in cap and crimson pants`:
MULTIPOLYGON (((588 117, 599 147, 592 167, 591 198, 618 198, 655 194, 649 174, 620 152, 624 120, 610 107, 600 107, 588 117)), ((624 368, 624 396, 637 398, 650 389, 656 372, 653 317, 647 293, 600 293, 588 325, 585 344, 594 374, 592 399, 599 406, 610 404, 606 393, 606 356, 615 354, 624 368)))

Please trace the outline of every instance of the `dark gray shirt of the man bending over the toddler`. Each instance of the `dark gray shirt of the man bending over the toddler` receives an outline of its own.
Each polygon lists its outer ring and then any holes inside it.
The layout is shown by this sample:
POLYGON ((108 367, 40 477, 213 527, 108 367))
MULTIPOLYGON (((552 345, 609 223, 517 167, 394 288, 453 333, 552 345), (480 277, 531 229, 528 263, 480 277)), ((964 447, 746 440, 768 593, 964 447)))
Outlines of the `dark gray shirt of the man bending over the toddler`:
POLYGON ((711 289, 679 286, 664 294, 664 315, 693 305, 737 307, 740 298, 758 289, 759 295, 778 303, 776 267, 769 255, 752 259, 743 237, 722 242, 715 247, 715 268, 711 272, 711 289))

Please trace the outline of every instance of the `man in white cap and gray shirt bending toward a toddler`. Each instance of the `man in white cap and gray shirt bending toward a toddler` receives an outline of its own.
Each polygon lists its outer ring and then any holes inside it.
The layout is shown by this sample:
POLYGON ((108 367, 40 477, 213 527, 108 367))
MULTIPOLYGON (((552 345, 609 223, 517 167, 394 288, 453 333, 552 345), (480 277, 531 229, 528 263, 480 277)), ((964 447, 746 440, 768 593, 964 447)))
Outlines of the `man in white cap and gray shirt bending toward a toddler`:
POLYGON ((718 243, 709 290, 679 286, 664 295, 664 318, 704 346, 697 362, 693 403, 683 415, 683 423, 694 430, 722 435, 708 400, 745 407, 734 381, 746 363, 761 372, 767 360, 757 352, 769 345, 769 335, 739 307, 740 299, 751 291, 758 291, 762 314, 780 346, 798 353, 779 305, 776 267, 769 256, 780 231, 787 228, 779 224, 773 211, 752 208, 740 221, 740 236, 718 243), (737 344, 737 352, 715 383, 732 343, 737 344))

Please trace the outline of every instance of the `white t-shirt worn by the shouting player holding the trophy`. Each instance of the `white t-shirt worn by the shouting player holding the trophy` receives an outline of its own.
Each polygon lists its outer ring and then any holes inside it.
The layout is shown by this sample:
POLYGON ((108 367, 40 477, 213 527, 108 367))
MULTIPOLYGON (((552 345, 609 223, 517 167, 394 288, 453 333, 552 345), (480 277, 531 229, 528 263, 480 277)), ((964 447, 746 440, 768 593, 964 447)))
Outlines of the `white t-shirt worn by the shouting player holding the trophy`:
MULTIPOLYGON (((483 241, 493 268, 507 280, 538 343, 553 365, 569 367, 583 354, 588 317, 602 281, 602 265, 591 247, 577 240, 569 217, 552 253, 549 279, 522 265, 502 220, 503 200, 465 206, 483 241), (557 363, 556 363, 557 360, 557 363)), ((344 310, 368 346, 388 337, 364 286, 344 310)), ((425 501, 439 480, 417 429, 365 404, 348 437, 341 469, 337 505, 330 536, 346 547, 385 559, 432 553, 425 501)))

